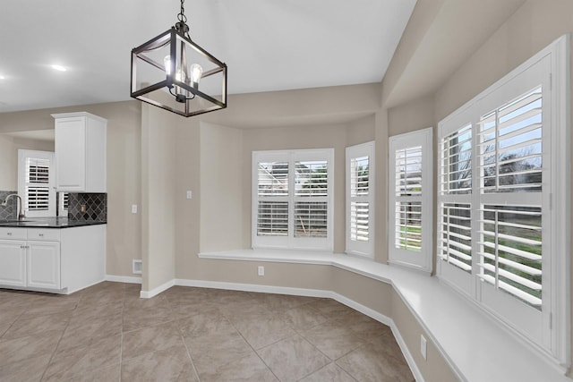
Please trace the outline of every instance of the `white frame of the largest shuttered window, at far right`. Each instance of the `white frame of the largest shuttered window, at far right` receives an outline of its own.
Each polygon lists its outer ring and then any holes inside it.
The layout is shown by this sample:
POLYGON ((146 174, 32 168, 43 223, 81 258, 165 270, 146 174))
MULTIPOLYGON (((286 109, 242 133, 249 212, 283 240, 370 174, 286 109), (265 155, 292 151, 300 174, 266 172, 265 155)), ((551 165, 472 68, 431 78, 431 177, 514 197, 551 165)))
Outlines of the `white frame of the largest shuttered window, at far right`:
MULTIPOLYGON (((561 366, 569 367, 570 363, 570 38, 569 35, 555 40, 549 47, 544 48, 526 63, 509 72, 500 81, 485 89, 480 95, 460 107, 457 111, 444 118, 439 123, 438 138, 441 143, 444 137, 457 131, 465 123, 472 124, 472 193, 469 195, 448 195, 444 198, 440 193, 438 182, 438 214, 440 225, 441 206, 445 201, 464 202, 471 200, 472 204, 472 273, 464 275, 461 270, 445 264, 440 258, 437 275, 440 280, 450 284, 462 293, 465 293, 481 308, 489 311, 499 318, 506 327, 533 344, 543 356, 561 366), (533 71, 533 72, 532 72, 533 71), (535 72, 539 71, 539 72, 535 72), (531 307, 520 303, 517 298, 504 296, 507 293, 496 291, 492 297, 492 287, 479 279, 480 266, 478 253, 481 236, 479 231, 482 206, 491 205, 499 197, 488 197, 481 191, 482 174, 478 160, 480 119, 496 107, 506 105, 511 99, 525 94, 527 89, 533 89, 532 84, 543 87, 543 144, 549 142, 550 147, 543 147, 543 191, 541 207, 543 214, 543 302, 540 318, 524 318, 533 312, 531 307), (531 81, 531 82, 530 82, 531 81), (529 87, 529 88, 528 88, 529 87), (545 108, 548 107, 548 112, 545 108), (546 114, 549 115, 546 115, 546 114), (545 128, 545 125, 549 124, 545 128), (549 138, 547 138, 549 137, 549 138), (549 177, 549 180, 546 180, 549 177), (559 206, 559 208, 556 208, 559 206), (476 215, 474 215, 476 214, 476 215), (546 247, 546 245, 550 247, 546 247), (551 248, 547 250, 547 248, 551 248), (560 256, 560 254, 567 254, 560 256), (511 300, 511 301, 510 301, 511 300), (492 302, 493 301, 493 302, 492 302), (515 305, 515 306, 514 306, 515 305), (526 308, 529 308, 527 310, 526 308), (527 313, 529 311, 529 313, 527 313), (522 325, 538 326, 534 330, 526 331, 522 325)), ((440 162, 440 161, 439 161, 440 162)), ((440 179, 441 173, 439 175, 440 179)), ((509 205, 525 205, 528 195, 508 193, 506 200, 509 205), (514 201, 511 201, 514 200, 514 201), (524 204, 525 203, 525 204, 524 204)), ((495 204, 495 203, 493 203, 495 204)), ((438 229, 440 235, 440 229, 438 229)), ((497 233, 496 233, 497 234, 497 233)), ((440 237, 440 236, 439 236, 440 237)), ((440 245, 440 242, 438 242, 440 245)), ((440 247, 438 248, 440 252, 440 247)), ((528 330, 528 329, 527 329, 528 330)))

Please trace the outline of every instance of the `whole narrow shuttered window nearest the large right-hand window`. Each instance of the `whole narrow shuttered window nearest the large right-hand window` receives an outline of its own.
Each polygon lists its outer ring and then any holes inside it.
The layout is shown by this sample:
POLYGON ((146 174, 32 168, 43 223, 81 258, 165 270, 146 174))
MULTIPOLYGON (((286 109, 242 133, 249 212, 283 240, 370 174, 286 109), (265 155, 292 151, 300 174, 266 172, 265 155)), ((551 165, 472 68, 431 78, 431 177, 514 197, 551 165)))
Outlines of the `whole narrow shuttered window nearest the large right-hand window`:
POLYGON ((432 272, 432 128, 389 139, 389 262, 432 272))

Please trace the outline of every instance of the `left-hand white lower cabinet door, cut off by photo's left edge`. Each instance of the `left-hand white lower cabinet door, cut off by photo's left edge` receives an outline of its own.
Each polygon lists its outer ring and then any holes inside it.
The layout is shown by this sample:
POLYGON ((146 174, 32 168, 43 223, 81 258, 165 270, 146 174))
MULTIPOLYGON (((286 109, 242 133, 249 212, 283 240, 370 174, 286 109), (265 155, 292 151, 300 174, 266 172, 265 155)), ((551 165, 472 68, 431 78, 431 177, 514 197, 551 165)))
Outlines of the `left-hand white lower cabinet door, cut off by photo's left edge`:
POLYGON ((0 284, 26 286, 26 242, 0 240, 0 284))

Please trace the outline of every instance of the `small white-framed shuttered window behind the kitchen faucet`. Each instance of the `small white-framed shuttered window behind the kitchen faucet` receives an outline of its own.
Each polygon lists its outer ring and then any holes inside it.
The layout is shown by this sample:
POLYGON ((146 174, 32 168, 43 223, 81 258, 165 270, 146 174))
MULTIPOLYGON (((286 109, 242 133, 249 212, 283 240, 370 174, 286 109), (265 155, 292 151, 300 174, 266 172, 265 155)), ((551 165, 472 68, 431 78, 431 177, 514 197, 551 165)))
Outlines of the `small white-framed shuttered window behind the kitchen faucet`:
POLYGON ((53 168, 53 152, 18 150, 18 194, 26 216, 56 216, 53 168))

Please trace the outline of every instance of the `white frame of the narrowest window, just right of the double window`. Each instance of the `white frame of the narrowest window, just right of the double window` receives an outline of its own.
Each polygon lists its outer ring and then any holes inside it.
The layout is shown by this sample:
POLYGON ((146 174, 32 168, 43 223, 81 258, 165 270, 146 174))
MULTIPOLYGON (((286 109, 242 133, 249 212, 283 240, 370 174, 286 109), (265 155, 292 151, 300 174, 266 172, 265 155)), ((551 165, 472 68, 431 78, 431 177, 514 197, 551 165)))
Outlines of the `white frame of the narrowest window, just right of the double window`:
POLYGON ((361 143, 346 148, 346 254, 374 258, 375 236, 375 196, 376 196, 376 158, 374 157, 375 142, 361 143), (352 196, 352 161, 360 157, 368 157, 368 195, 352 196), (352 240, 352 203, 368 203, 368 241, 352 240))

